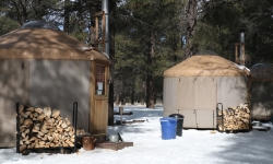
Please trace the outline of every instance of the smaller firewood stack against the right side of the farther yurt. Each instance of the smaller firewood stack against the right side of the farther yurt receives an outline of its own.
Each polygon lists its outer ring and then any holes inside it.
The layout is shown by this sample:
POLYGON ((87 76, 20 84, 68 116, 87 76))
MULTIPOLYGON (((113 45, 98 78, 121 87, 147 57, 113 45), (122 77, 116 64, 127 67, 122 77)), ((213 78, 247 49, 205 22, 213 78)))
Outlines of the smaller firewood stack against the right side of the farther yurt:
POLYGON ((249 130, 250 109, 247 104, 224 109, 223 116, 222 110, 218 110, 218 116, 217 125, 219 131, 249 130))

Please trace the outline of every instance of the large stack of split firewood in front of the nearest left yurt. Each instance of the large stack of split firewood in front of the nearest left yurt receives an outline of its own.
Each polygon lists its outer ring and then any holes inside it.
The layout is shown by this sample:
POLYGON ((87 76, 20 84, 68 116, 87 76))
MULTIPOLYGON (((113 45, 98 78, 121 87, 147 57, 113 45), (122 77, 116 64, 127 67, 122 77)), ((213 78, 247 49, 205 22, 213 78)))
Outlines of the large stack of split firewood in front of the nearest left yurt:
POLYGON ((20 151, 37 148, 74 147, 74 128, 60 110, 20 105, 20 151))

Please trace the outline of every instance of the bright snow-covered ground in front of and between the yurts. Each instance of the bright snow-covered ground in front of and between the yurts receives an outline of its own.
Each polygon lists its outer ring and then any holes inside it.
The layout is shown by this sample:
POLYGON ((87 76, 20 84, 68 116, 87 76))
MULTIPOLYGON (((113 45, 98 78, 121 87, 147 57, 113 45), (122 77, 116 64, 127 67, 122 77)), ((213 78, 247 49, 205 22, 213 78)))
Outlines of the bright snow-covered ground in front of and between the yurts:
MULTIPOLYGON (((182 137, 162 140, 159 118, 163 108, 126 107, 133 112, 123 119, 145 120, 126 126, 108 127, 108 133, 120 133, 133 147, 119 151, 80 150, 75 154, 16 154, 15 149, 0 149, 1 164, 273 164, 273 129, 239 133, 212 133, 211 130, 183 130, 182 137)), ((119 119, 119 118, 116 118, 119 119)), ((187 118, 185 118, 187 119, 187 118)), ((272 127, 271 124, 266 126, 272 127)))

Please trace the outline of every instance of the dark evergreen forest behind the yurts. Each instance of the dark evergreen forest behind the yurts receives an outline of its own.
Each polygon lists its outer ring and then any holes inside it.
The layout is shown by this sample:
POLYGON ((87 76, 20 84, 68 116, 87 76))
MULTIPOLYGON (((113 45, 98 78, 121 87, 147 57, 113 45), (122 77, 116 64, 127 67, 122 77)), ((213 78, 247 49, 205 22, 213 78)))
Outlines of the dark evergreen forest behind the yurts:
MULTIPOLYGON (((108 0, 109 125, 114 103, 163 103, 163 72, 203 51, 235 61, 245 31, 246 67, 273 62, 271 0, 108 0)), ((1 0, 0 36, 29 21, 50 22, 94 46, 102 0, 1 0)))

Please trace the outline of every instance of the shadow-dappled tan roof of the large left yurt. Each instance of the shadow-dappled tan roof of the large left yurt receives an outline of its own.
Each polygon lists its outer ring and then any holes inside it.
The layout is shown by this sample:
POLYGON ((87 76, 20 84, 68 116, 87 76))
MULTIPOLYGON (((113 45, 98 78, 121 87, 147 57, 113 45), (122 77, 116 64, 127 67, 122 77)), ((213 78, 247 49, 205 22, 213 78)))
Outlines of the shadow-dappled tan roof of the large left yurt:
POLYGON ((25 27, 0 36, 0 59, 105 60, 108 57, 64 32, 25 27))

